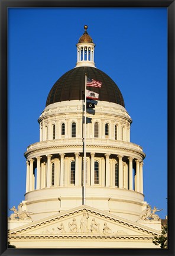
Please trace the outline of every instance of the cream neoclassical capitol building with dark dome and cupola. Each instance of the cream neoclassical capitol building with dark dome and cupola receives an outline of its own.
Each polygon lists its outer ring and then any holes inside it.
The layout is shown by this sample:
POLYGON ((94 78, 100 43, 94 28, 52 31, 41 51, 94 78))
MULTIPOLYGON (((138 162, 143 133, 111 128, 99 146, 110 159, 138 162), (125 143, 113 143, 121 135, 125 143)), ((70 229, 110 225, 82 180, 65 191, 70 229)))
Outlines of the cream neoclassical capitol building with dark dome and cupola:
POLYGON ((24 153, 25 199, 12 208, 9 241, 17 248, 156 248, 161 222, 144 201, 145 153, 130 142, 124 98, 96 68, 84 28, 76 66, 51 88, 38 119, 40 141, 24 153), (88 87, 99 98, 86 122, 85 74, 102 82, 88 87))

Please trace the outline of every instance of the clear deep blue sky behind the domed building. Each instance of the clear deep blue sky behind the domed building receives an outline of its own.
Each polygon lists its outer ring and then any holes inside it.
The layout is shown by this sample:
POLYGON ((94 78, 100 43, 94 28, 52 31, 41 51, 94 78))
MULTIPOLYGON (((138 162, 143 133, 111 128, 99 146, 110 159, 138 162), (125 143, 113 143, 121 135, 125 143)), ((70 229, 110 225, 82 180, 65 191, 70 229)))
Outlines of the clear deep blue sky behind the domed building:
POLYGON ((48 92, 76 65, 83 26, 96 67, 116 82, 144 149, 144 194, 167 215, 167 9, 8 9, 8 207, 24 200, 27 146, 39 141, 48 92))

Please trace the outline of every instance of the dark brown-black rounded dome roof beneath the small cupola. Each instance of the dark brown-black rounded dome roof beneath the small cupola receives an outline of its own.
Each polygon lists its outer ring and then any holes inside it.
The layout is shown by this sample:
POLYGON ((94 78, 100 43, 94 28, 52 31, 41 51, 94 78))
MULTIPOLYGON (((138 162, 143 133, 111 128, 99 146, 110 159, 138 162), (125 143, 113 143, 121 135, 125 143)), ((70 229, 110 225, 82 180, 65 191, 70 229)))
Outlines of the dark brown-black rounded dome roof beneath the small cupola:
POLYGON ((89 91, 97 92, 100 101, 108 101, 125 107, 124 98, 115 82, 103 71, 89 66, 73 68, 64 73, 51 88, 46 106, 67 100, 83 100, 82 92, 85 92, 85 73, 87 77, 102 82, 101 88, 87 88, 89 91))

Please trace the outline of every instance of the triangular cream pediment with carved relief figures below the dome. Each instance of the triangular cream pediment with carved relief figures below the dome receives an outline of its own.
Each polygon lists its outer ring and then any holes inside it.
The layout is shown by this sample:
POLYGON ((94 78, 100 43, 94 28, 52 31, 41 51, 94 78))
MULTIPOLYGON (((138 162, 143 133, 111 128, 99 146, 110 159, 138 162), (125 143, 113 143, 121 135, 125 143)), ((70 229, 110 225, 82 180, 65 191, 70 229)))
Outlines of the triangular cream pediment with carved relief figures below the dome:
POLYGON ((157 234, 160 233, 154 229, 85 205, 20 226, 9 232, 10 236, 33 238, 58 236, 148 238, 157 234))

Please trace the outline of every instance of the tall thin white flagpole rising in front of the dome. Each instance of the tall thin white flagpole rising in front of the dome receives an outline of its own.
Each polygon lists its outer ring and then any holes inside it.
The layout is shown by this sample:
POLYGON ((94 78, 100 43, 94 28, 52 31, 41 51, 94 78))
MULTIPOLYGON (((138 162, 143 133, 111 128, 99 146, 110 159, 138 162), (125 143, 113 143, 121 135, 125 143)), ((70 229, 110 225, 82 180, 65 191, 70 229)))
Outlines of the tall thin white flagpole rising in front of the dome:
POLYGON ((84 184, 83 184, 83 204, 86 204, 86 84, 87 75, 85 73, 85 126, 84 126, 84 184))

